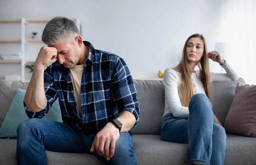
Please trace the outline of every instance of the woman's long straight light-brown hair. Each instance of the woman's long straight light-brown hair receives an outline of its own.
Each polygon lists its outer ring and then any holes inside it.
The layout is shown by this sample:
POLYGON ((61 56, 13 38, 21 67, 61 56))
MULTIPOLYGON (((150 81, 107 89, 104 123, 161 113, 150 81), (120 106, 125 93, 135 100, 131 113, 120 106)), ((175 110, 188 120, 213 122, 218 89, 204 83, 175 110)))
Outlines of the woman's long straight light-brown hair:
POLYGON ((186 47, 188 44, 189 39, 198 37, 201 38, 204 42, 204 53, 198 61, 198 67, 200 69, 199 72, 199 78, 201 79, 204 90, 207 95, 207 97, 211 100, 211 80, 210 80, 210 70, 209 70, 209 60, 208 60, 208 52, 207 52, 207 45, 204 39, 204 36, 201 34, 193 34, 192 36, 189 36, 189 38, 186 40, 183 53, 182 53, 182 60, 180 64, 178 65, 179 71, 181 73, 181 83, 178 87, 179 96, 180 96, 180 102, 182 106, 189 106, 190 99, 194 95, 194 90, 191 82, 191 73, 192 70, 190 70, 189 67, 189 61, 187 58, 186 53, 186 47))

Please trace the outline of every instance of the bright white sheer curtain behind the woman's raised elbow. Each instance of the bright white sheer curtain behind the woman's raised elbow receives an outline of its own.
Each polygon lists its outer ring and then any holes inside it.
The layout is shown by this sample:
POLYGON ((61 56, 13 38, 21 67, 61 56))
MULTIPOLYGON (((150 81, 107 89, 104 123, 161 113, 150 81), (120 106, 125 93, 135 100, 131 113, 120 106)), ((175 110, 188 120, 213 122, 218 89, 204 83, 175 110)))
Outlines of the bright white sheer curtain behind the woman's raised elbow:
POLYGON ((247 84, 256 84, 256 0, 221 1, 221 40, 227 60, 247 84))

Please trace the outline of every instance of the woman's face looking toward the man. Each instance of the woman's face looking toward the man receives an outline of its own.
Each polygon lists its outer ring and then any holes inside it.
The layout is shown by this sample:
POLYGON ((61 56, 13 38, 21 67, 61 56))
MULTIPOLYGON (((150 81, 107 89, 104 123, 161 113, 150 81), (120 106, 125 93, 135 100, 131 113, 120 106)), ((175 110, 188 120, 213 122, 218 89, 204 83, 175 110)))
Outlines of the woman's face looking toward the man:
POLYGON ((189 39, 186 45, 186 56, 189 62, 198 62, 204 53, 204 42, 199 37, 189 39))

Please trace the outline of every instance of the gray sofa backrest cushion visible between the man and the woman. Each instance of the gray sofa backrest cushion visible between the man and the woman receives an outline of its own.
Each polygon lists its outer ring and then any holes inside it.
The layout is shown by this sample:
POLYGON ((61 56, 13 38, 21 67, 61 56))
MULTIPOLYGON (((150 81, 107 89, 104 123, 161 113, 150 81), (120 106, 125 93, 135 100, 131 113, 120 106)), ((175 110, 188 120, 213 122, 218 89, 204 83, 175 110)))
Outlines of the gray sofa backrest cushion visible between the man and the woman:
POLYGON ((160 134, 160 121, 164 109, 162 81, 134 80, 140 103, 140 120, 133 134, 160 134))

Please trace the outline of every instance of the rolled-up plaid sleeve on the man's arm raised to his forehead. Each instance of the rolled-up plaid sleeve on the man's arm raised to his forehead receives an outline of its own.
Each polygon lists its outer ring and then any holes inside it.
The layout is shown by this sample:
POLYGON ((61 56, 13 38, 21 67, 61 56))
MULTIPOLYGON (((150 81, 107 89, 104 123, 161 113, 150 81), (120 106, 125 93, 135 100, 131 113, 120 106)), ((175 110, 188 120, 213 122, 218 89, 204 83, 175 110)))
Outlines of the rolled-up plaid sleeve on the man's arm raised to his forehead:
POLYGON ((26 106, 26 103, 23 101, 25 112, 29 118, 42 118, 44 117, 51 108, 54 101, 58 98, 57 90, 51 74, 52 67, 47 67, 44 71, 44 91, 47 98, 47 106, 45 109, 42 109, 40 112, 32 112, 26 106))

